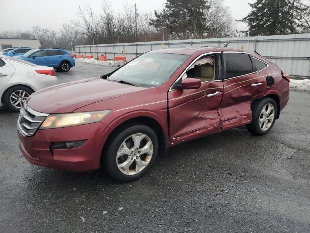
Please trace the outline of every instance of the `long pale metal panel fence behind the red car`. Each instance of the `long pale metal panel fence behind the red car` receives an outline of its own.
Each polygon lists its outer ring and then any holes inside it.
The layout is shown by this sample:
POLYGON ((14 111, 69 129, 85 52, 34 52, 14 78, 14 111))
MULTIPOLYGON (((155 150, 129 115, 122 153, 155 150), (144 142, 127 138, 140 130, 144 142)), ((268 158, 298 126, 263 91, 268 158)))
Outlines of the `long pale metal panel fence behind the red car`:
POLYGON ((225 46, 249 52, 256 50, 287 73, 310 77, 310 34, 85 45, 76 46, 75 53, 94 57, 107 55, 108 59, 124 54, 130 61, 132 57, 150 50, 181 46, 225 46))

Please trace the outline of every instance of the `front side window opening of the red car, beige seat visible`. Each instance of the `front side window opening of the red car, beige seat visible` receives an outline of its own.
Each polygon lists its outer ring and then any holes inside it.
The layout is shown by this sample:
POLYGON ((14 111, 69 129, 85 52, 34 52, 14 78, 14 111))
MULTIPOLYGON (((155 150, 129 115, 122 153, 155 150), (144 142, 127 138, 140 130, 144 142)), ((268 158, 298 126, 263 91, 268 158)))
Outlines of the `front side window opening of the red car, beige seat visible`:
POLYGON ((216 57, 208 56, 197 60, 188 68, 182 79, 197 78, 202 82, 215 80, 216 75, 216 57))

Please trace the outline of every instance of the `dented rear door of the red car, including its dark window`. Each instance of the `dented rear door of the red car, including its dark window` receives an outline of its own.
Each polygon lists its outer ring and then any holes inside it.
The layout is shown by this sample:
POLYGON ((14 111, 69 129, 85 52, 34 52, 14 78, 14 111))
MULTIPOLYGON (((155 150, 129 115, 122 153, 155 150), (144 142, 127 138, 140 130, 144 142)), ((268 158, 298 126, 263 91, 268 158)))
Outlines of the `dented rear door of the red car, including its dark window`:
POLYGON ((224 52, 223 57, 224 93, 219 114, 225 130, 251 121, 251 102, 262 96, 266 81, 256 72, 249 53, 224 52))

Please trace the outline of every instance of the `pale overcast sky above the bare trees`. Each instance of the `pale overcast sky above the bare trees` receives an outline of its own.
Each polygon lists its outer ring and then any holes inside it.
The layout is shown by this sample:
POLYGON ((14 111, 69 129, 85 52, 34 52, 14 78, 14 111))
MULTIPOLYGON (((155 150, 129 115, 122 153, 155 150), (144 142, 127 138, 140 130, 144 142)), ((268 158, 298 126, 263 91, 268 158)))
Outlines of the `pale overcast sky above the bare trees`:
MULTIPOLYGON (((253 0, 224 0, 235 19, 246 16, 253 0)), ((102 0, 0 0, 0 31, 30 30, 32 26, 57 30, 63 23, 75 19, 78 5, 91 4, 96 12, 100 12, 102 0)), ((161 9, 166 0, 111 0, 115 12, 128 2, 137 3, 140 11, 161 9)))

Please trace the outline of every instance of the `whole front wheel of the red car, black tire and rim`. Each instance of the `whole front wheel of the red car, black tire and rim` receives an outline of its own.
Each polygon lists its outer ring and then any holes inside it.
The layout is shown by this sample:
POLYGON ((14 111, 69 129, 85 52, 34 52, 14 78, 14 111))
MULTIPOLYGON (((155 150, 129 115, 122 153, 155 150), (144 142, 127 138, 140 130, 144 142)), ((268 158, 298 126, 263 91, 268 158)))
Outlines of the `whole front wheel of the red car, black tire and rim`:
POLYGON ((127 125, 115 132, 107 142, 103 166, 107 174, 119 182, 134 181, 154 165, 158 148, 158 138, 153 129, 140 124, 127 125), (139 146, 134 146, 133 139, 137 139, 136 145, 140 141, 139 146), (142 153, 141 149, 147 153, 142 153))

